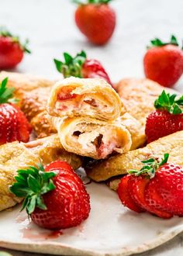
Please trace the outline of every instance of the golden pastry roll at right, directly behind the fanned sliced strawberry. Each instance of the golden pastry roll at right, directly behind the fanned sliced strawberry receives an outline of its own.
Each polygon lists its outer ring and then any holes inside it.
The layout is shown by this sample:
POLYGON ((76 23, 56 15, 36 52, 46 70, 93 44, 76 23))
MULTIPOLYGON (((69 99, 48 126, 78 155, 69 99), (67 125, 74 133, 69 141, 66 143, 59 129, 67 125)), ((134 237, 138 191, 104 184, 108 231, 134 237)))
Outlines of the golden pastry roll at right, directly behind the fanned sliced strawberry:
POLYGON ((95 182, 102 182, 111 177, 124 175, 129 169, 140 170, 141 161, 150 157, 161 157, 170 154, 169 162, 183 164, 183 131, 173 133, 167 137, 147 144, 147 147, 119 154, 109 159, 96 163, 87 169, 87 175, 95 182))

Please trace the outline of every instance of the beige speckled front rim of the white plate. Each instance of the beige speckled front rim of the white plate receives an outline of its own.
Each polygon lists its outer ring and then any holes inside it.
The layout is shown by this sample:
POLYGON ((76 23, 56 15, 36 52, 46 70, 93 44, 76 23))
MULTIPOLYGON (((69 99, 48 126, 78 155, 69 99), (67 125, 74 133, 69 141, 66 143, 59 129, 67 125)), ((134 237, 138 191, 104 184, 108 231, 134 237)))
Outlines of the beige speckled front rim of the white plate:
MULTIPOLYGON (((156 239, 150 240, 149 243, 139 245, 138 247, 130 248, 123 247, 115 252, 95 252, 89 250, 81 250, 77 247, 67 247, 64 245, 59 245, 54 242, 49 244, 45 242, 33 242, 33 243, 11 243, 7 241, 0 240, 0 247, 7 249, 12 249, 16 251, 27 251, 40 254, 54 254, 54 255, 71 255, 71 256, 128 256, 132 254, 140 254, 145 251, 150 251, 161 244, 166 243, 168 240, 176 237, 178 234, 183 232, 183 225, 178 229, 172 230, 169 234, 161 234, 156 239)), ((114 250, 113 250, 114 251, 114 250)))

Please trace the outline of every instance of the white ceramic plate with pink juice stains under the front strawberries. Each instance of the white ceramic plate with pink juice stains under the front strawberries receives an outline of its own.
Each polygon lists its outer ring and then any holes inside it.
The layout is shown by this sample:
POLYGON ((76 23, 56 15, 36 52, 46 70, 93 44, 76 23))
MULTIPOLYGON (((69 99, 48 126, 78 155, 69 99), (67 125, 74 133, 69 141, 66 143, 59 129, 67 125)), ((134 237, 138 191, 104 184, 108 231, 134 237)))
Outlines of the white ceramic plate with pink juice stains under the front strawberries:
POLYGON ((88 220, 62 230, 62 234, 36 227, 25 212, 19 213, 19 206, 0 213, 0 247, 46 254, 119 256, 150 250, 183 231, 183 218, 161 220, 133 213, 106 185, 91 182, 87 190, 91 195, 88 220))

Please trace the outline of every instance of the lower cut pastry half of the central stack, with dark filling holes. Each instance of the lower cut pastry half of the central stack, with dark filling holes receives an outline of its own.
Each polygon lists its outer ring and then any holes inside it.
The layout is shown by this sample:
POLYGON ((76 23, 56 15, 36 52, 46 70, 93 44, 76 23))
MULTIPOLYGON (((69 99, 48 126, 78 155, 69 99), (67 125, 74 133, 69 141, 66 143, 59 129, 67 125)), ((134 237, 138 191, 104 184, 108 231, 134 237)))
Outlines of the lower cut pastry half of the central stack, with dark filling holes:
POLYGON ((119 122, 106 123, 89 117, 53 117, 64 149, 85 157, 103 159, 124 153, 131 147, 131 136, 119 122))

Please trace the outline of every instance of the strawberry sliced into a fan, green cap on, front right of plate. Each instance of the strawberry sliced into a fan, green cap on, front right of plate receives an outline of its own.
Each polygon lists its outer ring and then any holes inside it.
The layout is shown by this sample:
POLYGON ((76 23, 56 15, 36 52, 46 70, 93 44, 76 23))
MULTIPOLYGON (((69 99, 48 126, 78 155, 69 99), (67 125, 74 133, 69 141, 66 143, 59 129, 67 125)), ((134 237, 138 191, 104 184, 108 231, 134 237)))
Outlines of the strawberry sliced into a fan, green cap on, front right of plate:
POLYGON ((183 216, 183 168, 167 163, 168 157, 164 154, 161 161, 154 158, 142 161, 144 166, 140 171, 130 170, 121 179, 118 194, 125 206, 164 219, 183 216))

